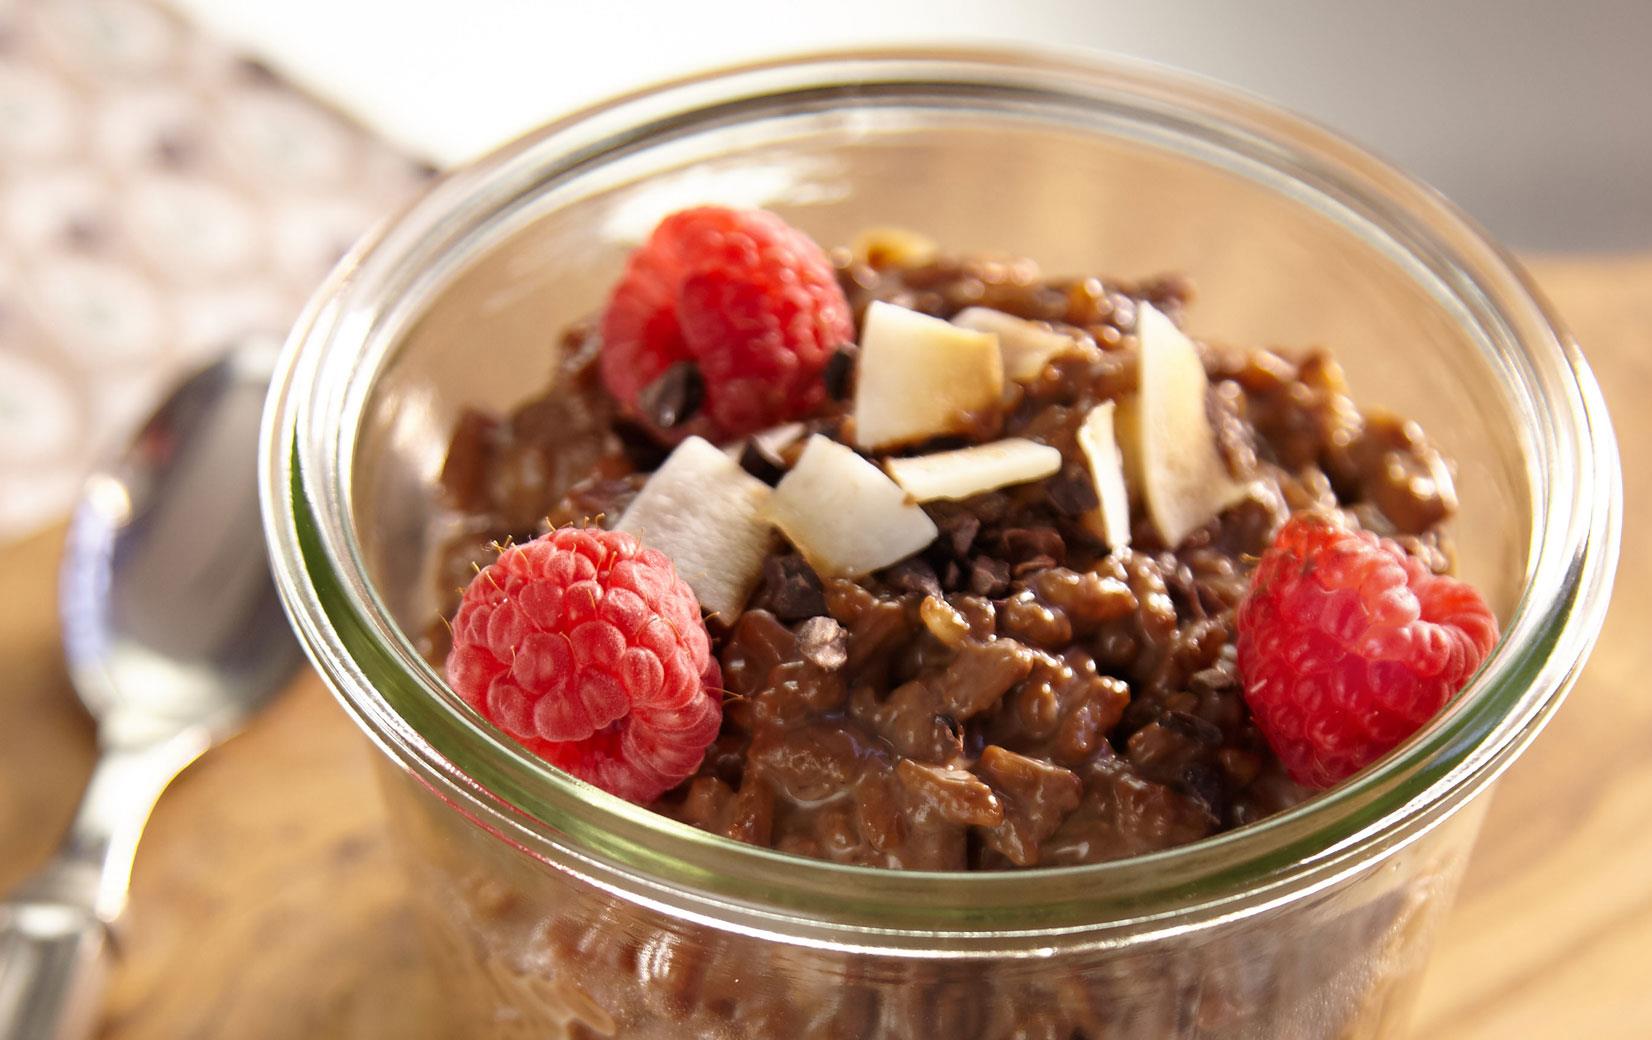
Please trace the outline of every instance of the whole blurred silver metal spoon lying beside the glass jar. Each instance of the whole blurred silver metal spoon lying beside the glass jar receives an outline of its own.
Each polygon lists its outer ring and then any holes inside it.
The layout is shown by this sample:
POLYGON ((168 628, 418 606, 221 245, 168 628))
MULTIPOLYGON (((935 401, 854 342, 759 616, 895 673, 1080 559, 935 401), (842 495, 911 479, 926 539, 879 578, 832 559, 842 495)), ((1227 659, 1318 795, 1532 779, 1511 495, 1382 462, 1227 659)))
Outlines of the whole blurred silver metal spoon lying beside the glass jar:
POLYGON ((58 853, 0 905, 3 1038, 91 1032, 155 799, 301 660, 258 517, 273 362, 249 343, 185 381, 76 507, 59 614, 101 756, 58 853))

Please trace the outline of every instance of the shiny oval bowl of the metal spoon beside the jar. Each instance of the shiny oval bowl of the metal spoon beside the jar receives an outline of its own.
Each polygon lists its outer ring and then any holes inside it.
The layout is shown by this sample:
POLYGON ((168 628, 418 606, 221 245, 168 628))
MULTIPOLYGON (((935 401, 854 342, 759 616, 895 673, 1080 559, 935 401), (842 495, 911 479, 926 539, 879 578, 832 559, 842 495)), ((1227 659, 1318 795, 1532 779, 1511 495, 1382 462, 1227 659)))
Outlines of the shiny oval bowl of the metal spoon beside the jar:
POLYGON ((86 482, 59 614, 69 677, 106 746, 226 735, 299 664, 253 466, 274 353, 249 343, 183 381, 86 482))

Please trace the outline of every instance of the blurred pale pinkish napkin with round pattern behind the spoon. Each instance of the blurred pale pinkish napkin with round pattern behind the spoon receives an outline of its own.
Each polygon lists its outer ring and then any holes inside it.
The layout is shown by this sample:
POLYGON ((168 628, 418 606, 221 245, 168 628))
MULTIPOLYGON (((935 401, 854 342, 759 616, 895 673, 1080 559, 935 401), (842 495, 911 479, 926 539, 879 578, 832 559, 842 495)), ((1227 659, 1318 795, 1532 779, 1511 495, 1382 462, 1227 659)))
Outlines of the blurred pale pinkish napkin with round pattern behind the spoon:
POLYGON ((0 541, 428 175, 147 0, 0 0, 0 541))

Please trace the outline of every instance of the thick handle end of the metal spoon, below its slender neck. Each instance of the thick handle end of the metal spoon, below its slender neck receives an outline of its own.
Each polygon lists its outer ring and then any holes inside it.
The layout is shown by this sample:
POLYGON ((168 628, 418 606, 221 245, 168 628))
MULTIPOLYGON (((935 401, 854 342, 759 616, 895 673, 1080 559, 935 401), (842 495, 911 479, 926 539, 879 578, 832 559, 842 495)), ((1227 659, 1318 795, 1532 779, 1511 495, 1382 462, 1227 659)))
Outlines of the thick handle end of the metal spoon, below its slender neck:
POLYGON ((91 1035, 109 933, 97 915, 53 900, 0 906, 0 1037, 91 1035))

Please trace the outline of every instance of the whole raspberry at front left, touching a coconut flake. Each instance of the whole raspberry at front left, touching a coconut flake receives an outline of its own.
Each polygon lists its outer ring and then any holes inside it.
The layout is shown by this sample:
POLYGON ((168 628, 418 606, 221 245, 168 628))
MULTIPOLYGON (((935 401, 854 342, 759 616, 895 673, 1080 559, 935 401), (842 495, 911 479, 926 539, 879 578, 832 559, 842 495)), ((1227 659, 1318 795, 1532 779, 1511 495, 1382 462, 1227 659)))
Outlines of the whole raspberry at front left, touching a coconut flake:
POLYGON ((722 725, 699 601, 621 532, 560 528, 482 568, 453 619, 448 683, 545 761, 633 802, 689 778, 722 725))

